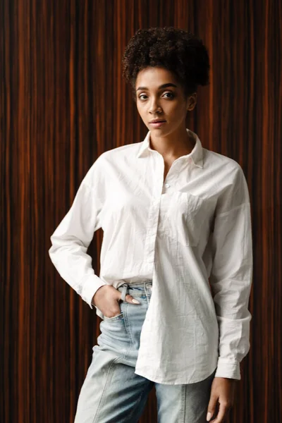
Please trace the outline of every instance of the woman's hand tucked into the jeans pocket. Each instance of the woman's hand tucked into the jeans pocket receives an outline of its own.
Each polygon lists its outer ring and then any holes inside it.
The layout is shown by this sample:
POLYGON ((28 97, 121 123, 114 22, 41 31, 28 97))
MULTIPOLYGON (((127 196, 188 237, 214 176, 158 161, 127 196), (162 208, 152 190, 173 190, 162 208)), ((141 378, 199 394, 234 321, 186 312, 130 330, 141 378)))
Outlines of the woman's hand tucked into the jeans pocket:
MULTIPOLYGON (((111 285, 103 285, 97 289, 92 298, 92 304, 96 305, 106 317, 115 317, 121 314, 121 307, 118 302, 121 300, 119 290, 111 285)), ((140 304, 131 295, 125 295, 125 301, 133 304, 140 304)))

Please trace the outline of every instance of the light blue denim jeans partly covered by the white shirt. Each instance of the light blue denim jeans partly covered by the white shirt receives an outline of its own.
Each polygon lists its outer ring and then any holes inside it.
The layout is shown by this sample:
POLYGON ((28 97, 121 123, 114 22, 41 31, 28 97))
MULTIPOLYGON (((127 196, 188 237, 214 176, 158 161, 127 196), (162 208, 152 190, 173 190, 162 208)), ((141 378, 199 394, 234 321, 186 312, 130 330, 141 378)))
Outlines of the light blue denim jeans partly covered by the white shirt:
MULTIPOLYGON (((137 423, 149 391, 157 395, 158 423, 205 423, 214 373, 186 385, 157 384, 134 373, 152 281, 124 283, 121 314, 104 317, 80 390, 74 423, 137 423), (130 294, 140 305, 125 302, 130 294)), ((148 422, 155 423, 155 422, 148 422)))

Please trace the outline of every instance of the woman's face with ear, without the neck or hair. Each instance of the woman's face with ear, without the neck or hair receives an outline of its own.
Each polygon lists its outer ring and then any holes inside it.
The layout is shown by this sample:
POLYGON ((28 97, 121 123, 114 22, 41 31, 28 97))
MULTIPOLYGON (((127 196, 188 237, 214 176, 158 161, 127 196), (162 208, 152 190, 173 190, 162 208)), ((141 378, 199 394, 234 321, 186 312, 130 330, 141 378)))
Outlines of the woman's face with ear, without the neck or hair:
POLYGON ((185 128, 187 111, 194 109, 197 102, 196 93, 185 99, 183 87, 173 73, 159 66, 142 69, 137 74, 135 92, 142 121, 150 131, 161 136, 181 126, 185 128), (150 123, 159 118, 165 121, 159 127, 150 123))

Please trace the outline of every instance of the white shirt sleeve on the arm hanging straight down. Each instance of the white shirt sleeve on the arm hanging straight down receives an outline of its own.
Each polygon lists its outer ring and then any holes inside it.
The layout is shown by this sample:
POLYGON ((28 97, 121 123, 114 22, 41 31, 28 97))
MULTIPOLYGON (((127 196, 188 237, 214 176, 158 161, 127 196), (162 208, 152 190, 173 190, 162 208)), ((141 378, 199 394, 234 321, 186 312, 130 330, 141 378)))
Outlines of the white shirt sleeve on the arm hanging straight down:
MULTIPOLYGON (((239 166, 239 165, 238 165, 239 166)), ((240 362, 250 350, 248 310, 252 285, 250 198, 242 168, 219 199, 212 233, 209 278, 219 324, 218 377, 240 380, 240 362)))

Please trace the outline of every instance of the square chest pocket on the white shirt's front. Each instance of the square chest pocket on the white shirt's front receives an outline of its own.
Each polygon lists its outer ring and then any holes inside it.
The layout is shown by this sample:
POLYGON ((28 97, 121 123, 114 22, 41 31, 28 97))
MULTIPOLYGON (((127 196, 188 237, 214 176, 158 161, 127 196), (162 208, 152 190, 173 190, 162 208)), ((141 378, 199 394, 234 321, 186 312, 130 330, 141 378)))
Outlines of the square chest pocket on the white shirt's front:
POLYGON ((171 242, 195 247, 208 211, 202 197, 175 191, 162 195, 159 214, 159 236, 171 242))

